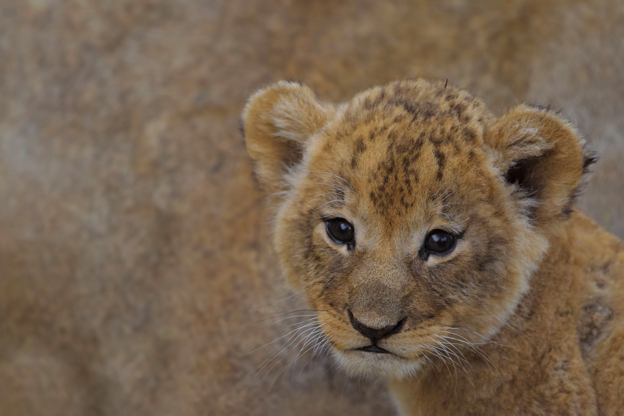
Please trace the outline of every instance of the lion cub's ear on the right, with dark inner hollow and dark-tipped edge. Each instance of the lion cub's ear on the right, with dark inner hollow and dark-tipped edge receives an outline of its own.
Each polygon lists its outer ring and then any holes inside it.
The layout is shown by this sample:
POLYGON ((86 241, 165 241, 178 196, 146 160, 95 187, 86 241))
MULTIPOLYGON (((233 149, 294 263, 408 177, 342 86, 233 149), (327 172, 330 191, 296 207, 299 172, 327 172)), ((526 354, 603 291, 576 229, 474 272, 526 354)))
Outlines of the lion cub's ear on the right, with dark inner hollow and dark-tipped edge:
POLYGON ((535 225, 567 218, 582 176, 595 161, 568 121, 545 108, 520 105, 495 121, 485 141, 535 225))

